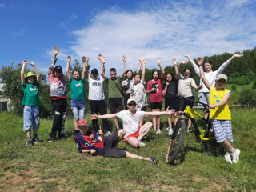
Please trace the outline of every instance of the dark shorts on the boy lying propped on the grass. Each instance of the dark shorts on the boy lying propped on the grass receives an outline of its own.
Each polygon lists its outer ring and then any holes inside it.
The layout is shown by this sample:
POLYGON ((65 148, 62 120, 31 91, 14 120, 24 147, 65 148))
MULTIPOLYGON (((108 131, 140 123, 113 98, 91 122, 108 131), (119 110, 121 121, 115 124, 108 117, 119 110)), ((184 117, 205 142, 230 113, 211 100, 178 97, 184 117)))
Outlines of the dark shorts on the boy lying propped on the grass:
POLYGON ((114 134, 106 136, 106 142, 104 143, 102 156, 107 158, 126 158, 125 150, 118 150, 117 148, 115 148, 115 145, 119 140, 118 131, 119 130, 116 130, 114 134))

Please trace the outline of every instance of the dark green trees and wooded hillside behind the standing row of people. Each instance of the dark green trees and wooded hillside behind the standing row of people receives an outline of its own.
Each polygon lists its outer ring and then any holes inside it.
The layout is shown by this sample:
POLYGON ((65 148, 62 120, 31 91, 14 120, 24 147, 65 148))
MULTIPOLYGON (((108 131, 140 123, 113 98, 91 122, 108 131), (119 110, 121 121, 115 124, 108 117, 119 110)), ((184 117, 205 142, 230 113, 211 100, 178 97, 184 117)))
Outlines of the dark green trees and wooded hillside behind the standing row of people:
MULTIPOLYGON (((224 70, 224 74, 226 74, 229 78, 229 84, 235 85, 247 85, 250 82, 253 82, 253 89, 243 90, 241 92, 241 99, 239 102, 242 104, 256 104, 256 47, 252 50, 243 50, 242 53, 237 52, 238 54, 244 54, 242 58, 234 59, 230 65, 226 66, 224 70)), ((205 60, 210 60, 213 63, 213 70, 217 70, 219 66, 222 65, 223 62, 226 62, 233 54, 230 53, 223 53, 213 56, 205 56, 203 57, 205 60)), ((198 55, 199 56, 199 55, 198 55)), ((194 58, 194 62, 196 62, 196 58, 194 58)), ((196 62, 197 63, 197 62, 196 62)), ((89 66, 90 67, 90 66, 89 66)), ((190 62, 186 65, 181 66, 181 73, 186 68, 190 67, 191 78, 194 78, 196 83, 198 84, 200 79, 197 74, 195 74, 193 67, 191 66, 190 62)), ((22 114, 23 107, 22 107, 22 98, 23 98, 23 91, 21 87, 21 78, 20 72, 22 69, 22 63, 19 63, 14 66, 14 63, 11 63, 10 66, 2 66, 0 70, 0 79, 1 83, 4 84, 2 92, 0 94, 6 98, 10 98, 10 106, 13 107, 14 111, 17 111, 19 114, 22 114)), ((73 64, 70 66, 70 71, 78 69, 82 71, 82 66, 78 62, 78 60, 74 60, 73 64)), ((146 69, 145 80, 148 82, 151 78, 152 70, 154 69, 146 69)), ((166 66, 165 72, 174 72, 173 66, 166 66)), ((30 71, 29 68, 26 68, 26 71, 30 71)), ((40 95, 40 113, 42 113, 42 117, 51 117, 52 116, 52 106, 50 100, 50 88, 48 85, 48 80, 46 74, 40 73, 40 86, 38 87, 39 95, 40 95)), ((67 78, 65 77, 66 88, 68 90, 68 94, 66 95, 68 107, 67 113, 72 114, 70 109, 70 83, 68 82, 67 78)), ((88 96, 89 86, 88 83, 85 83, 85 90, 86 90, 86 97, 88 96)), ((104 82, 104 94, 105 94, 105 102, 106 106, 109 106, 108 102, 108 90, 107 90, 107 83, 104 82)), ((148 95, 149 96, 149 95, 148 95)), ((87 113, 90 113, 90 101, 86 99, 86 110, 87 113)))

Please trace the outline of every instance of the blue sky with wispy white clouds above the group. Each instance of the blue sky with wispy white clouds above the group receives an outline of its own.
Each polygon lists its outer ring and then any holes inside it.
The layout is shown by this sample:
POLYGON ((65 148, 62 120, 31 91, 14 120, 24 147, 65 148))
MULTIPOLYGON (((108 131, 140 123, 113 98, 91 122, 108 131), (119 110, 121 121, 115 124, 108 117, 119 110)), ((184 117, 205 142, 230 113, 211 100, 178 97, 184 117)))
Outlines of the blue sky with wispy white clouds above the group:
POLYGON ((0 0, 0 68, 33 60, 46 72, 53 46, 58 65, 66 56, 100 68, 97 55, 111 67, 136 70, 138 57, 146 68, 192 58, 253 49, 256 42, 256 2, 253 0, 0 0))

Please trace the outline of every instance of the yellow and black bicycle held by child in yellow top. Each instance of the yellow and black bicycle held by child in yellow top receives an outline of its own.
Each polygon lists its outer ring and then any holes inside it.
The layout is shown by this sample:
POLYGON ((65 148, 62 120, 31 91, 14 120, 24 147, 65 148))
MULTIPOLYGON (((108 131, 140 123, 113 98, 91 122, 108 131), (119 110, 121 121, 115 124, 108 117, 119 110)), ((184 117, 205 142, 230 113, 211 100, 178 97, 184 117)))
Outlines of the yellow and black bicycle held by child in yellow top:
POLYGON ((214 132, 210 131, 211 129, 211 120, 209 119, 209 106, 205 103, 202 102, 195 102, 193 100, 184 98, 178 94, 173 94, 175 97, 178 97, 179 99, 184 99, 188 102, 186 105, 185 110, 180 113, 180 118, 176 122, 176 126, 174 127, 173 134, 170 139, 170 144, 168 146, 167 154, 166 154, 166 163, 172 164, 174 160, 177 158, 179 150, 181 149, 182 146, 182 141, 186 133, 186 125, 189 120, 191 119, 192 125, 194 129, 192 132, 195 135, 196 142, 202 142, 204 149, 206 151, 218 151, 222 149, 222 145, 218 145, 215 137, 214 137, 214 132), (194 111, 191 107, 190 104, 194 103, 199 103, 201 106, 204 106, 207 110, 206 113, 208 113, 207 118, 203 118, 202 115, 198 114, 196 111, 194 111), (200 132, 198 128, 198 124, 194 119, 194 115, 198 116, 198 118, 201 118, 204 121, 204 126, 202 133, 200 132), (184 117, 184 118, 183 118, 184 117), (214 144, 217 144, 216 147, 214 147, 214 144))

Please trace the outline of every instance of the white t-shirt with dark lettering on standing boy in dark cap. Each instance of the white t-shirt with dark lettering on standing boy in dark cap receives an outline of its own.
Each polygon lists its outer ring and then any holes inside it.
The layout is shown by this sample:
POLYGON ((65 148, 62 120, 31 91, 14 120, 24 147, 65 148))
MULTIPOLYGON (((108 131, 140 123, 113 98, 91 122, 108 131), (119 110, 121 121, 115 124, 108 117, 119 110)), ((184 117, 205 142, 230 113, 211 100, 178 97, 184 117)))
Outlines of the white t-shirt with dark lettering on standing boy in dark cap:
POLYGON ((89 83, 89 96, 90 100, 103 100, 105 98, 103 91, 103 82, 104 78, 100 76, 98 79, 88 78, 87 82, 89 83))

